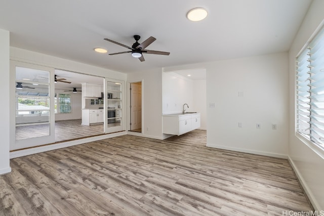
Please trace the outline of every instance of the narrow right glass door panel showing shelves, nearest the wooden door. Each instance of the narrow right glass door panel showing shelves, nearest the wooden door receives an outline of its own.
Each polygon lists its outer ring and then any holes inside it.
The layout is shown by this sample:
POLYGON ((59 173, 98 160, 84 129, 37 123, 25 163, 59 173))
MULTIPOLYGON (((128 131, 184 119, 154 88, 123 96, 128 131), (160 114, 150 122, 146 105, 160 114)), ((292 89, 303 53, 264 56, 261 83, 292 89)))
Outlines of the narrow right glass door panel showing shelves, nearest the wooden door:
POLYGON ((107 81, 107 121, 106 133, 123 131, 123 83, 107 81))

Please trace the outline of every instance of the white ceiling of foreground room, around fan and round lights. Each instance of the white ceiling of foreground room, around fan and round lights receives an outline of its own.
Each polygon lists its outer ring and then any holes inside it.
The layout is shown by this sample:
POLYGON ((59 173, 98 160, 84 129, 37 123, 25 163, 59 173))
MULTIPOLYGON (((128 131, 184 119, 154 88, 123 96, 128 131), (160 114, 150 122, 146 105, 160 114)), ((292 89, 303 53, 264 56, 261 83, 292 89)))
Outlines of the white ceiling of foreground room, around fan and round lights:
MULTIPOLYGON (((0 28, 10 31, 10 45, 125 73, 199 62, 288 51, 311 0, 0 0, 0 28), (199 22, 186 13, 204 7, 199 22), (103 38, 131 46, 156 40, 144 62, 103 38)), ((64 77, 66 79, 70 77, 64 77)))

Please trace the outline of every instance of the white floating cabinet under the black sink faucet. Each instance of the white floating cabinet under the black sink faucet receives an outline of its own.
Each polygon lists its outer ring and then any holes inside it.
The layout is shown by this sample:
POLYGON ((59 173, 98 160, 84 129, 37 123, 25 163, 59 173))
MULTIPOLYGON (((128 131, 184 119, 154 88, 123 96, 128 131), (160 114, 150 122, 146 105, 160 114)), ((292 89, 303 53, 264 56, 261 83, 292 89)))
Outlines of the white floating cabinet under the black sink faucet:
POLYGON ((163 133, 182 135, 200 127, 200 113, 163 115, 163 133))

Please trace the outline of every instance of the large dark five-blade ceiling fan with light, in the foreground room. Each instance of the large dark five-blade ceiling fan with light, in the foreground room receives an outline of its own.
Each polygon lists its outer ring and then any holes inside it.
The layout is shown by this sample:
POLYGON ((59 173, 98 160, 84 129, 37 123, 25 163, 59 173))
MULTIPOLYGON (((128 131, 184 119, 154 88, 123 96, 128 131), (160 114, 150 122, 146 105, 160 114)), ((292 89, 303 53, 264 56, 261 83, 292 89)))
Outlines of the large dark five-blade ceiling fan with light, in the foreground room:
POLYGON ((134 35, 134 39, 136 40, 136 42, 132 45, 132 47, 120 44, 119 42, 113 41, 111 39, 107 39, 104 38, 104 40, 107 40, 109 42, 113 42, 116 45, 119 45, 121 47, 125 47, 130 49, 130 51, 126 51, 126 52, 120 52, 120 53, 111 53, 109 55, 117 55, 117 54, 123 54, 123 53, 132 53, 132 56, 135 58, 138 58, 141 62, 145 61, 144 57, 143 57, 143 53, 147 53, 147 54, 157 54, 157 55, 166 55, 169 56, 170 53, 168 52, 161 52, 161 51, 155 51, 155 50, 145 50, 146 47, 148 47, 150 44, 152 44, 152 42, 154 42, 154 40, 156 40, 155 37, 150 36, 149 38, 147 38, 146 40, 144 40, 144 42, 142 42, 141 44, 138 42, 138 40, 141 38, 140 35, 134 35))

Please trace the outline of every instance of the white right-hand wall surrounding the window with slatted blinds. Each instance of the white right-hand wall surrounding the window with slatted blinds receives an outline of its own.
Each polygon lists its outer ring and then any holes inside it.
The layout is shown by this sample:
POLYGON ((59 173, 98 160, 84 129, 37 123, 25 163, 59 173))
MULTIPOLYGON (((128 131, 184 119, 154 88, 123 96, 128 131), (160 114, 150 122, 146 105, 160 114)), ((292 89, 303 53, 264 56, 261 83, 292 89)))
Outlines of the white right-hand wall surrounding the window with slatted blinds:
POLYGON ((322 26, 324 1, 314 0, 289 52, 290 130, 289 157, 313 206, 324 210, 324 152, 295 135, 295 58, 307 41, 322 26))

